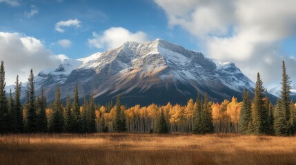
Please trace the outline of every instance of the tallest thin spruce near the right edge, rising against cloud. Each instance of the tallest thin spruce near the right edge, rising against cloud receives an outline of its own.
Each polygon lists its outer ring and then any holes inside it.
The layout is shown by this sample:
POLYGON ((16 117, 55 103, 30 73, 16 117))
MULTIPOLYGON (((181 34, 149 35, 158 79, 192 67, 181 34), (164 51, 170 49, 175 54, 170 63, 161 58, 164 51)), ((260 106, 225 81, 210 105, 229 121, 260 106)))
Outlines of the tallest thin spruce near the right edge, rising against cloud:
POLYGON ((286 73, 285 61, 282 63, 282 109, 284 109, 284 115, 286 122, 290 120, 290 78, 286 73))

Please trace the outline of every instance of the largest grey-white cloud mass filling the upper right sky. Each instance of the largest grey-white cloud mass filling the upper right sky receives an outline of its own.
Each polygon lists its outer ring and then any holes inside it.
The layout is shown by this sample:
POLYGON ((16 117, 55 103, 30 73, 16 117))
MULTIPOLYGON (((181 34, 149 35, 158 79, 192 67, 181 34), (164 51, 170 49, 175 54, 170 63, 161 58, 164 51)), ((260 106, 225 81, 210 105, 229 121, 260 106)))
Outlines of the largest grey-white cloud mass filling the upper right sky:
POLYGON ((281 62, 293 80, 295 58, 283 56, 281 43, 296 35, 294 0, 155 0, 168 17, 200 41, 210 58, 233 61, 252 80, 257 72, 265 83, 281 80, 281 62), (270 74, 273 73, 273 74, 270 74))

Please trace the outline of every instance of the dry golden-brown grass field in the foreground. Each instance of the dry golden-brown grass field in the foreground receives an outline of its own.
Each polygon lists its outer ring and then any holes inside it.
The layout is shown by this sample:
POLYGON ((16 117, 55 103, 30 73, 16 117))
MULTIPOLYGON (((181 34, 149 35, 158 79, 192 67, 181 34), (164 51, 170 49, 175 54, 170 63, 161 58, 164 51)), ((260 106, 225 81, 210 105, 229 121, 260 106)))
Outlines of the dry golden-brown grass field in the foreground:
POLYGON ((296 137, 1 135, 0 164, 296 164, 296 137))

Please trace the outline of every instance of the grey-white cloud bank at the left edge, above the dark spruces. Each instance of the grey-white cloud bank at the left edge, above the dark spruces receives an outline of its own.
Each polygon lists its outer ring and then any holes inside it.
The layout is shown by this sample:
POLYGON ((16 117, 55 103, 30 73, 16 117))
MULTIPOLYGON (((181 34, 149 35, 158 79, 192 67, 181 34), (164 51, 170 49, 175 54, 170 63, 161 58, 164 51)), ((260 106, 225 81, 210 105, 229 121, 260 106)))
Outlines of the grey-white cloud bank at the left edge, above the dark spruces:
POLYGON ((0 32, 0 58, 6 69, 6 83, 14 84, 19 75, 21 81, 28 80, 30 69, 37 75, 46 67, 57 67, 68 58, 63 54, 53 55, 32 36, 19 33, 0 32))

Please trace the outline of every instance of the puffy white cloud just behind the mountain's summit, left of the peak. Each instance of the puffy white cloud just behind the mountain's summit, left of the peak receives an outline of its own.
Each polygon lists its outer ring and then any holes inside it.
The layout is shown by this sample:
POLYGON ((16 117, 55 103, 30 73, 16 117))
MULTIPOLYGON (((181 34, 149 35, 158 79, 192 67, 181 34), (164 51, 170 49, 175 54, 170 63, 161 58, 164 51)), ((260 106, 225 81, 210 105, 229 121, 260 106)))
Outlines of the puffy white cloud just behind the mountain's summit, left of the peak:
POLYGON ((144 32, 132 33, 125 28, 116 27, 105 30, 99 35, 96 32, 92 33, 93 39, 88 40, 91 47, 110 49, 119 47, 127 41, 145 42, 148 41, 147 35, 144 32))

